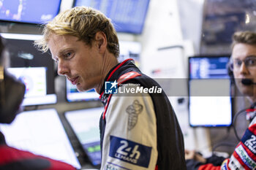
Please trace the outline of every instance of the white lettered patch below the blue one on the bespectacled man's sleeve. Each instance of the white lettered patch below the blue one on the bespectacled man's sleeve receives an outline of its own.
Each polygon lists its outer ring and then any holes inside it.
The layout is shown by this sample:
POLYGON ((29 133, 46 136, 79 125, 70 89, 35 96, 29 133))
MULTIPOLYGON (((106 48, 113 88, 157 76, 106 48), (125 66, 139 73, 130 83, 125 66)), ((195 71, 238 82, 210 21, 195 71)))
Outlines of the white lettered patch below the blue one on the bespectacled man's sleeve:
POLYGON ((240 144, 238 147, 236 147, 236 153, 241 158, 241 161, 246 164, 246 166, 249 167, 249 169, 255 169, 256 162, 252 160, 252 158, 249 157, 246 150, 244 150, 244 147, 240 144))

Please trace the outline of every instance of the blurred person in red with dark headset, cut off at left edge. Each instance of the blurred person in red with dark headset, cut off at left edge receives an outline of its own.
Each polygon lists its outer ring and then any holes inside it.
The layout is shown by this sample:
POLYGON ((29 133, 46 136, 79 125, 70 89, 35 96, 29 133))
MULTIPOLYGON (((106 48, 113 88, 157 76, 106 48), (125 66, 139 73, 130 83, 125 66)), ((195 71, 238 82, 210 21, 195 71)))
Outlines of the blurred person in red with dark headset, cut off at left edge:
MULTIPOLYGON (((0 123, 12 123, 20 111, 25 85, 4 69, 4 39, 0 36, 0 123)), ((75 170, 61 161, 54 161, 31 152, 15 149, 5 142, 0 131, 0 170, 75 170)))

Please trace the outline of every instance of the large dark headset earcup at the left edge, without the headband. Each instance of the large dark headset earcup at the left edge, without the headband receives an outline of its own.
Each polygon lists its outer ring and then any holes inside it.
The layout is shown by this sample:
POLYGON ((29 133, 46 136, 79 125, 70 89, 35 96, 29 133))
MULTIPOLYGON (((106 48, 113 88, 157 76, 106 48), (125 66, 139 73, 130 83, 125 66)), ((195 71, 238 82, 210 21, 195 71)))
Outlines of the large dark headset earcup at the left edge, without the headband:
POLYGON ((4 74, 4 98, 1 99, 0 123, 12 123, 25 94, 25 85, 9 74, 4 74))

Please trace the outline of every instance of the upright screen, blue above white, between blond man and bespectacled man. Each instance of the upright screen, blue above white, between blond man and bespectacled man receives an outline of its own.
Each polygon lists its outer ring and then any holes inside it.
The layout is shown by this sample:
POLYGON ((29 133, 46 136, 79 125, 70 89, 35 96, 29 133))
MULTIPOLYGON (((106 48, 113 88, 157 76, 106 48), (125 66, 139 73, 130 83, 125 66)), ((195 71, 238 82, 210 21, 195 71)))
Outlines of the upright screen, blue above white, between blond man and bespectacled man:
POLYGON ((189 124, 229 126, 232 101, 227 63, 230 55, 189 58, 189 124))

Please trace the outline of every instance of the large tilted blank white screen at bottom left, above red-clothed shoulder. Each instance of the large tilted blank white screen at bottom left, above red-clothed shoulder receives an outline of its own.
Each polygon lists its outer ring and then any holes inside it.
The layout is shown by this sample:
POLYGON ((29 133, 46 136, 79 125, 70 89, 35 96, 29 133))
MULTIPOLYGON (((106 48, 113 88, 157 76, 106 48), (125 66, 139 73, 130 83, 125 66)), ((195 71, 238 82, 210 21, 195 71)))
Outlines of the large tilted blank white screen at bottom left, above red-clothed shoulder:
POLYGON ((0 131, 11 147, 81 168, 56 109, 21 112, 10 125, 0 124, 0 131))

